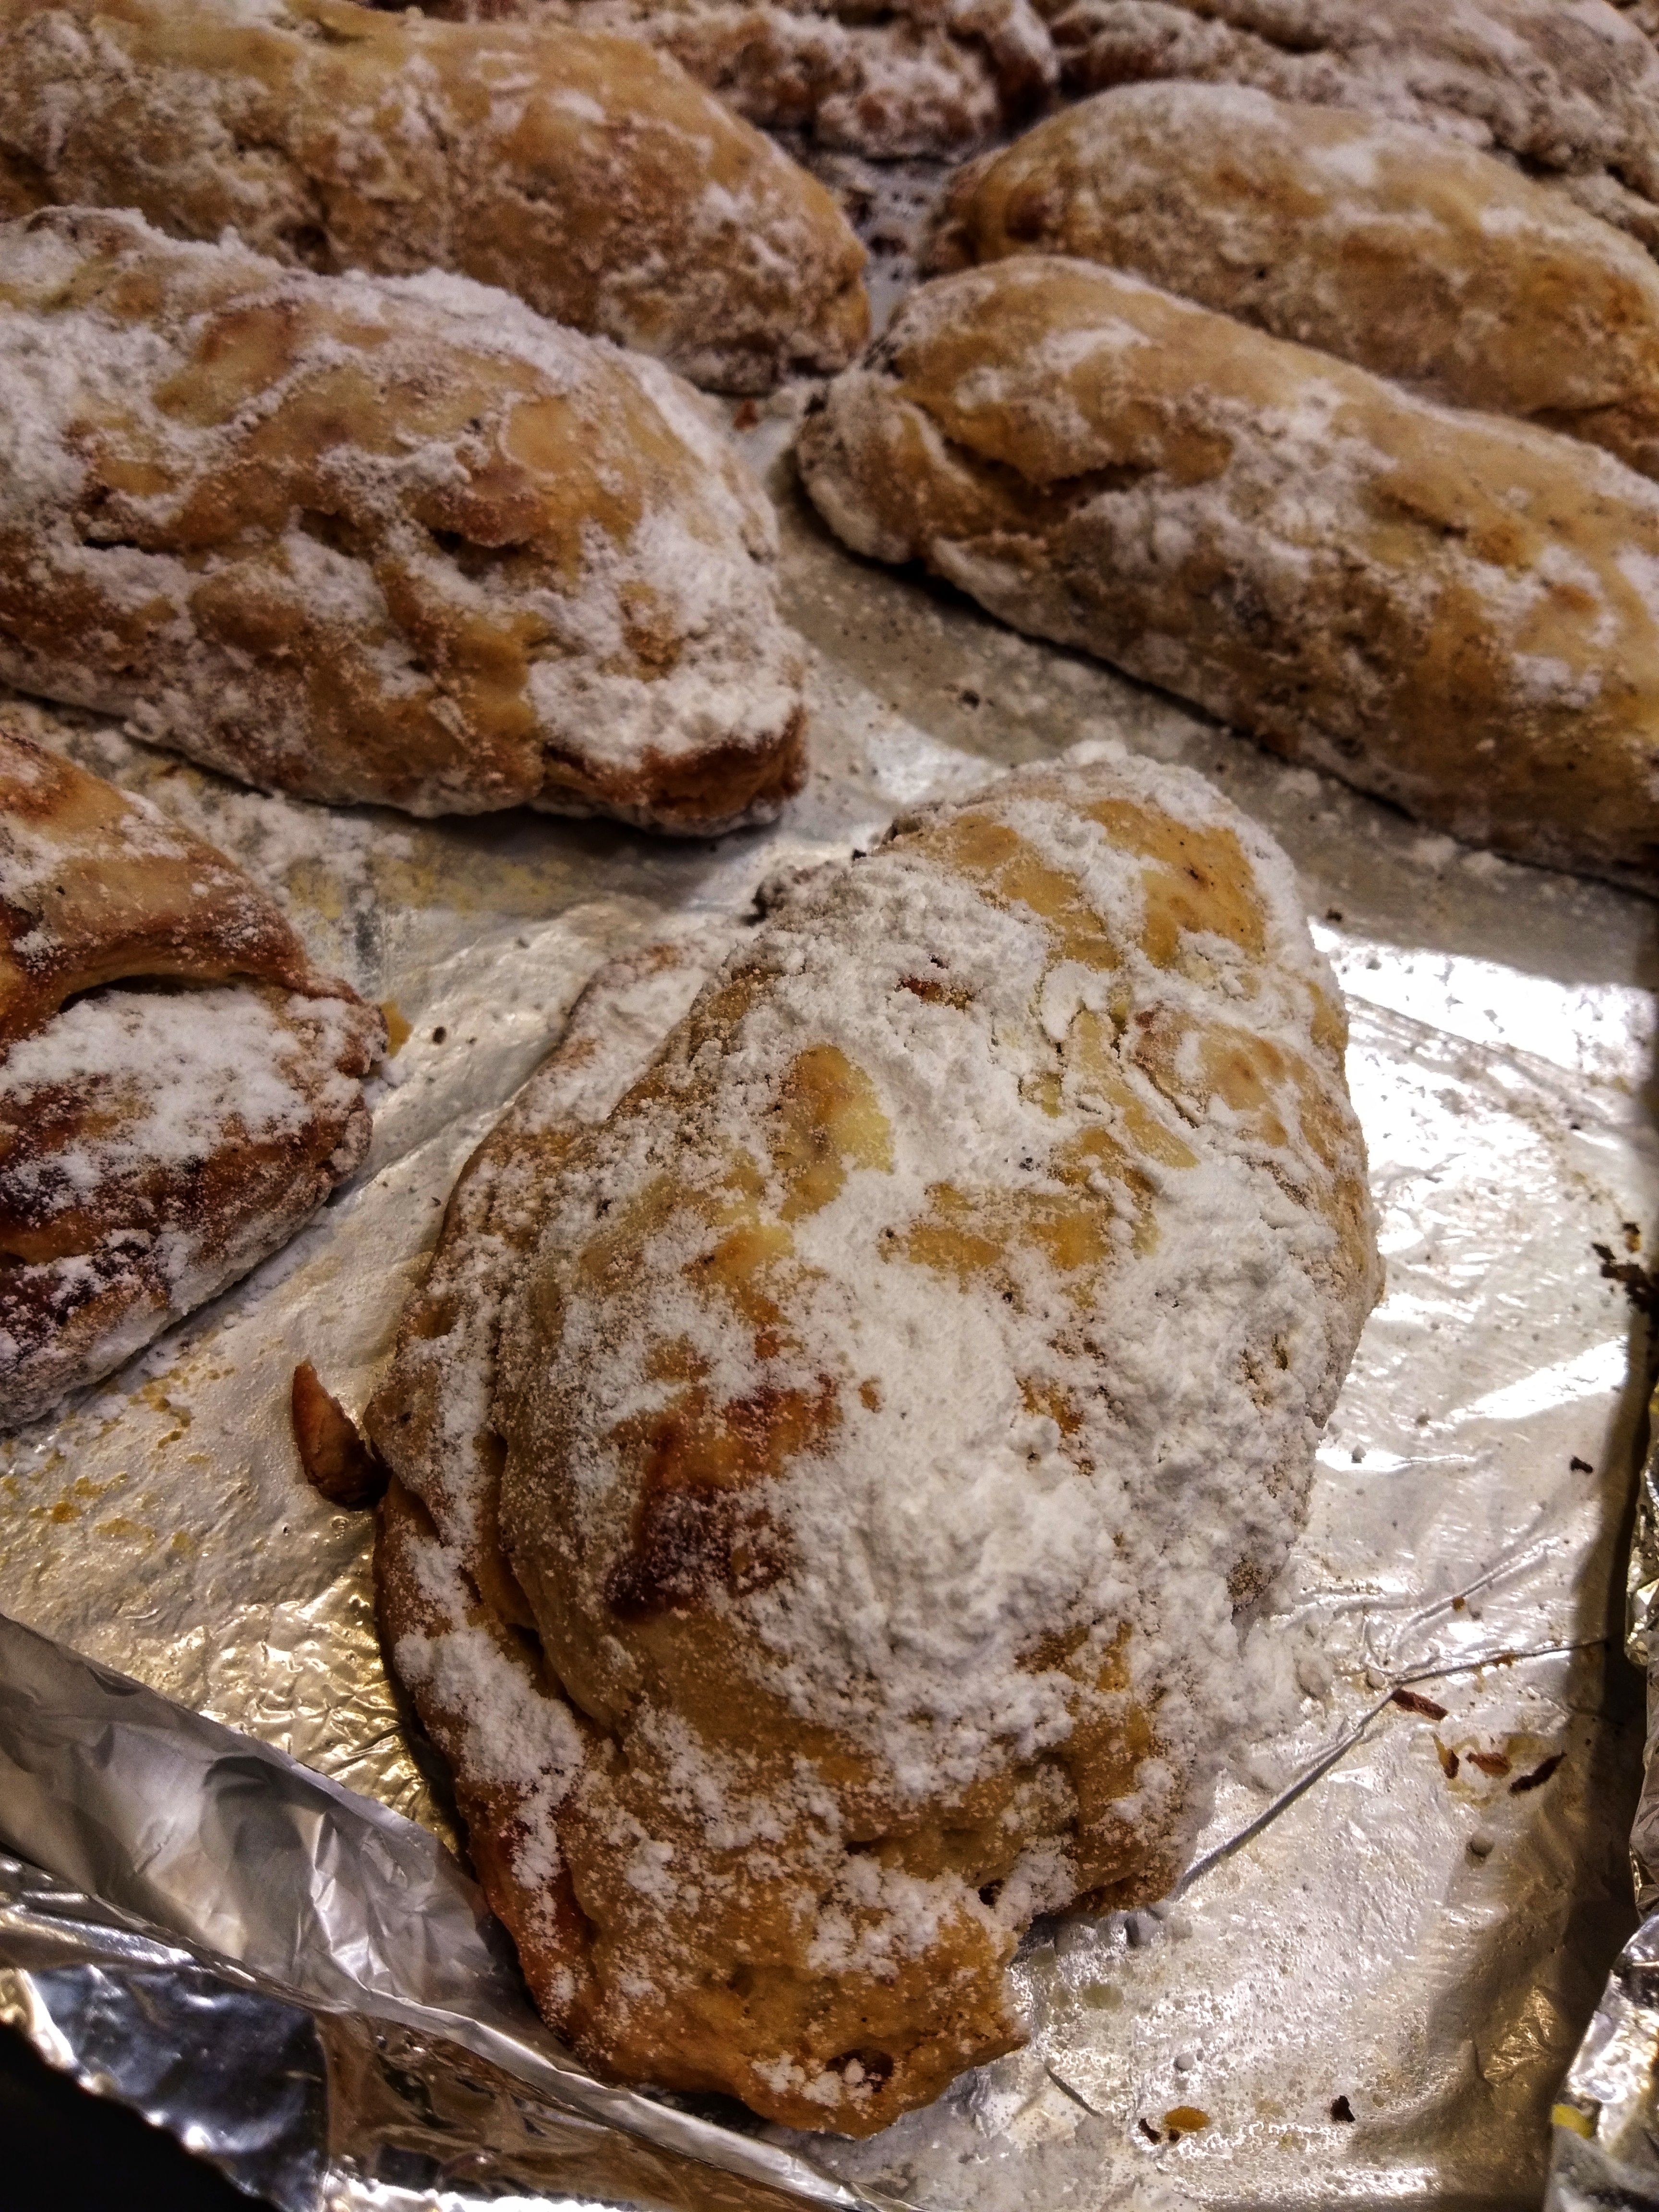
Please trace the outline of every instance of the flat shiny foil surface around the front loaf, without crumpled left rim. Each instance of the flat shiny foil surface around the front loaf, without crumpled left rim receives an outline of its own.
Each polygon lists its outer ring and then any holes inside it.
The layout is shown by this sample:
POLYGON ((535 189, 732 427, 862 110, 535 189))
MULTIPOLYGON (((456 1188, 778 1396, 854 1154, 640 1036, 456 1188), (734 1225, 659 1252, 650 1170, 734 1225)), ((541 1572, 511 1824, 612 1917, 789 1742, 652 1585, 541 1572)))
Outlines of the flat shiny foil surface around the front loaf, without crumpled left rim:
POLYGON ((1349 993, 1385 1217, 1389 1298, 1256 1630, 1294 1655, 1303 1703, 1225 1781, 1170 1905, 1033 1933, 1024 2053, 865 2146, 759 2135, 940 2212, 1535 2203, 1551 2104, 1635 1918, 1639 1679, 1608 1637, 1646 1376, 1593 1248, 1628 1265, 1659 1221, 1659 909, 1422 836, 852 560, 781 453, 796 400, 741 440, 783 511, 785 613, 816 648, 814 774, 772 832, 666 845, 319 810, 49 717, 49 741, 243 858, 409 1037, 369 1161, 319 1221, 0 1449, 0 1610, 447 1834, 378 1663, 365 1520, 299 1482, 292 1365, 363 1405, 460 1161, 608 953, 739 911, 774 867, 860 847, 1000 763, 1093 737, 1186 761, 1301 869, 1349 993))

